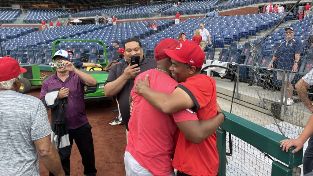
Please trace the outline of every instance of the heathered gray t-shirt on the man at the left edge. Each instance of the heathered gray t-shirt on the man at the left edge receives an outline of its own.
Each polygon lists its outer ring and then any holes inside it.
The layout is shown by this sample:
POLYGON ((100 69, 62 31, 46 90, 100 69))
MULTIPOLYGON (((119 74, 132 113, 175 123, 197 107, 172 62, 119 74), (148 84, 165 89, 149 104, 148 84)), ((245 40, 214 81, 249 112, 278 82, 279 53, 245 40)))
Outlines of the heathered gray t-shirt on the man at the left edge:
POLYGON ((0 175, 39 176, 33 141, 51 133, 46 108, 15 91, 0 91, 0 97, 0 175))

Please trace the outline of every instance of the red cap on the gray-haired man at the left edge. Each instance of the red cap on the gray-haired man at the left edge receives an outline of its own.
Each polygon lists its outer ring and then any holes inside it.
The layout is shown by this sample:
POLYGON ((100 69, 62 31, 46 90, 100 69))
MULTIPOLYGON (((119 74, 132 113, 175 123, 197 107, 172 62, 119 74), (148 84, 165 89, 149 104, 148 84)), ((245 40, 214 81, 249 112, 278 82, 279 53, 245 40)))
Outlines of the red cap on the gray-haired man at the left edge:
POLYGON ((18 61, 11 57, 0 57, 0 81, 7 81, 16 78, 27 70, 20 67, 18 61))

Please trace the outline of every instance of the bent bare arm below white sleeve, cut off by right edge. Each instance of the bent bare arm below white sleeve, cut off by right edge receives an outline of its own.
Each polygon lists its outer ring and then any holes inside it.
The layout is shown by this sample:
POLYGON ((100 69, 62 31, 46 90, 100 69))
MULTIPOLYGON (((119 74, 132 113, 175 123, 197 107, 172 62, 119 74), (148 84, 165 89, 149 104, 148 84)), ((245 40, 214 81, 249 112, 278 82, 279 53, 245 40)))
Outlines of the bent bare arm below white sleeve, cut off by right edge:
POLYGON ((301 101, 305 104, 305 106, 313 112, 313 106, 311 104, 311 101, 308 97, 308 92, 307 92, 307 88, 310 85, 308 83, 306 83, 302 78, 297 82, 297 84, 295 85, 295 88, 301 98, 301 101))

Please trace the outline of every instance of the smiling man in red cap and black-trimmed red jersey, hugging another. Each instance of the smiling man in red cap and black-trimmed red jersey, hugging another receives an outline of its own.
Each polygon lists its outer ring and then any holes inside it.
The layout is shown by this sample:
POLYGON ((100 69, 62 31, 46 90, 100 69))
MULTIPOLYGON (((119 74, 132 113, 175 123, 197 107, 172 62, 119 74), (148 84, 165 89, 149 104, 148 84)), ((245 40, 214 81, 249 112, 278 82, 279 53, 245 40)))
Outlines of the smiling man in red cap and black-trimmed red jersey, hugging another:
MULTIPOLYGON (((135 92, 164 113, 172 114, 182 109, 192 108, 193 111, 197 111, 200 121, 215 119, 213 117, 219 113, 215 81, 207 75, 200 74, 205 54, 199 45, 187 40, 180 43, 175 50, 164 49, 164 52, 172 58, 170 67, 172 77, 179 82, 176 89, 170 95, 153 91, 149 88, 147 75, 145 81, 138 79, 135 92)), ((177 123, 178 127, 179 123, 177 123)), ((172 166, 179 171, 178 175, 217 175, 219 159, 215 130, 221 123, 215 123, 214 127, 212 124, 211 128, 208 128, 211 133, 207 133, 204 140, 195 141, 189 136, 190 134, 182 130, 179 132, 172 162, 172 166)), ((198 124, 199 121, 190 120, 184 125, 191 131, 196 131, 198 124)))

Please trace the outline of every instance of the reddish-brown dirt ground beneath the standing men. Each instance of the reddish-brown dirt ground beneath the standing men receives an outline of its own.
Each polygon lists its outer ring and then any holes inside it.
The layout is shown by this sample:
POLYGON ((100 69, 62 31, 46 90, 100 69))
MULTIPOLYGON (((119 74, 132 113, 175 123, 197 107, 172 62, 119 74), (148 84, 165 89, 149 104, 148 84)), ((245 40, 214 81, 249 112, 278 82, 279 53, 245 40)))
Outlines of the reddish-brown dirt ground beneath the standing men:
MULTIPOLYGON (((39 98, 40 87, 33 86, 28 95, 39 98)), ((110 125, 109 122, 118 116, 118 112, 110 111, 117 109, 114 101, 110 107, 101 107, 88 104, 86 114, 92 126, 92 134, 95 146, 95 163, 98 176, 125 176, 123 155, 126 147, 125 125, 110 125)), ((50 119, 51 111, 48 111, 50 119)), ((81 163, 80 153, 73 144, 71 153, 71 175, 84 175, 84 167, 81 163)), ((40 175, 48 176, 49 172, 40 161, 40 175)))

